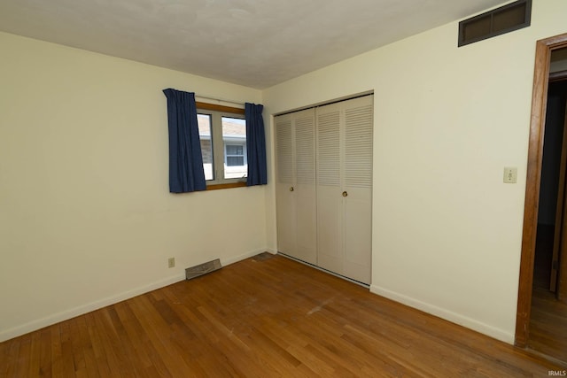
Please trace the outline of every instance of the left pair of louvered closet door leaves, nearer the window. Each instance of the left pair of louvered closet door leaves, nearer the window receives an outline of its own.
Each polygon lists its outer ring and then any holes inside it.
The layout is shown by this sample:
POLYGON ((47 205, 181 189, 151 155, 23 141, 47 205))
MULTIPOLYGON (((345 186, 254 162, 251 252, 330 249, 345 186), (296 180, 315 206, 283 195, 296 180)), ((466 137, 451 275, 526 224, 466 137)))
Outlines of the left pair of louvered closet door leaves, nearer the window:
POLYGON ((278 251, 316 264, 315 110, 275 121, 278 251))

